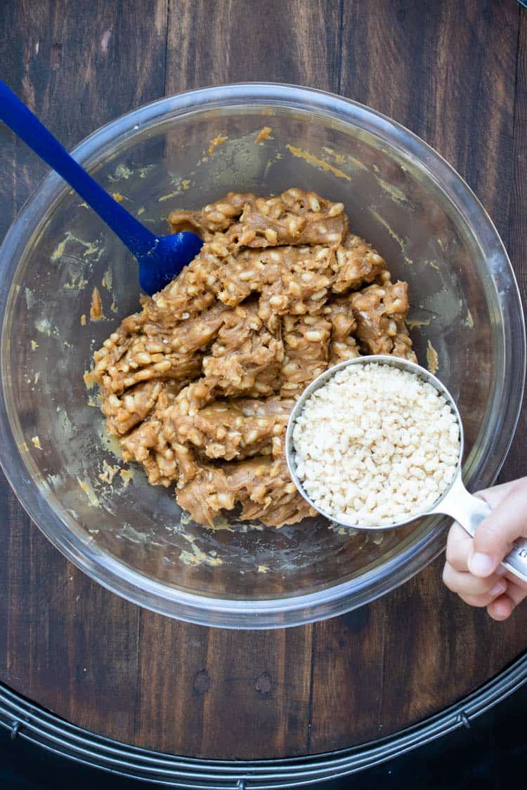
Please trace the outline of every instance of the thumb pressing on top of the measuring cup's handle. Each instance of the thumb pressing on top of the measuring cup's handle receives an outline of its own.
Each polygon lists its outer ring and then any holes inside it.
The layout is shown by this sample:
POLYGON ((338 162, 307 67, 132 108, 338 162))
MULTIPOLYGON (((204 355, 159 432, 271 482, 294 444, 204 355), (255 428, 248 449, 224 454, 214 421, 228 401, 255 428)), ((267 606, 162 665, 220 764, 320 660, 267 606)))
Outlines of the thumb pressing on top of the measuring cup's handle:
POLYGON ((474 576, 493 574, 518 537, 527 537, 527 478, 510 487, 507 495, 481 522, 472 541, 469 570, 474 576))

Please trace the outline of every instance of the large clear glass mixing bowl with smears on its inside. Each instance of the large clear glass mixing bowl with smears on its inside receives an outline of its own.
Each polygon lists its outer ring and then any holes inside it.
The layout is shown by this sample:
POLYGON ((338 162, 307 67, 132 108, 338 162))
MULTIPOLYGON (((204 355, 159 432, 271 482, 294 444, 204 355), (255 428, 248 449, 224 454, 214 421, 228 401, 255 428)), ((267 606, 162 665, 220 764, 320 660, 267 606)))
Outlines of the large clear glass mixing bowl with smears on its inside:
MULTIPOLYGON (((228 190, 299 186, 344 202, 353 231, 409 283, 417 355, 434 365, 437 353, 464 419, 465 482, 495 480, 521 404, 521 302, 491 220, 423 141, 328 93, 246 84, 141 107, 75 156, 154 231, 168 230, 171 209, 228 190)), ((319 518, 283 529, 194 524, 171 490, 127 470, 83 377, 92 352, 137 309, 134 259, 55 174, 1 255, 2 467, 44 534, 112 592, 208 626, 292 626, 367 603, 442 550, 448 521, 438 517, 391 532, 319 518), (95 287, 99 322, 89 318, 95 287)))

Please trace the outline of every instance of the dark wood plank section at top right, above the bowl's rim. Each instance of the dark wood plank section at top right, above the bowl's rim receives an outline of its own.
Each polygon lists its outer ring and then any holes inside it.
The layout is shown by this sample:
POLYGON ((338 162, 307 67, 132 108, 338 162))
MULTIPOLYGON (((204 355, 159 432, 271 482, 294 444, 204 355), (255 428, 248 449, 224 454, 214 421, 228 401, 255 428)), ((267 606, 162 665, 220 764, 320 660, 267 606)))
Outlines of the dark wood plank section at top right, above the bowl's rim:
POLYGON ((439 151, 506 241, 519 13, 503 0, 344 2, 342 35, 344 96, 439 151))

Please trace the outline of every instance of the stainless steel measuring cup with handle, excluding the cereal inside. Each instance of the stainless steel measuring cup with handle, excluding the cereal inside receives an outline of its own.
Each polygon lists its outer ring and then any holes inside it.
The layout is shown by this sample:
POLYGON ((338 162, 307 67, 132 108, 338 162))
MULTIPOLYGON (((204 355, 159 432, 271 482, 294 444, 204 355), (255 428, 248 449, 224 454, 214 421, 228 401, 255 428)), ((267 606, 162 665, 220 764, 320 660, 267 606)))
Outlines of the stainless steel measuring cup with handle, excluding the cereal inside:
MULTIPOLYGON (((314 382, 311 382, 311 384, 303 391, 302 395, 299 397, 299 400, 296 402, 295 408, 293 408, 291 416, 289 417, 288 430, 285 436, 285 457, 295 486, 298 488, 299 493, 303 496, 303 498, 309 502, 311 507, 314 507, 315 510, 318 510, 318 513, 321 513, 322 516, 325 516, 330 521, 337 521, 338 524, 354 527, 355 529, 395 529, 396 527, 400 527, 403 524, 408 524, 409 521, 414 521, 416 518, 442 513, 443 515, 453 517, 455 521, 461 524, 463 529, 465 529, 466 532, 468 532, 469 535, 473 537, 476 534, 476 529, 480 525, 481 521, 484 521, 484 518, 486 518, 491 512, 491 508, 487 505, 487 502, 483 501, 483 499, 469 494, 469 491, 466 490, 465 485, 463 484, 463 479, 461 476, 463 449, 463 423, 461 423, 461 416, 457 409, 454 398, 450 395, 448 389, 446 389, 446 387, 439 381, 438 378, 435 378, 434 375, 432 375, 429 371, 426 371, 423 367, 420 367, 420 365, 408 362, 406 359, 398 359, 397 357, 386 355, 362 356, 357 359, 348 359, 346 362, 342 362, 339 365, 330 367, 329 370, 322 373, 320 376, 318 376, 318 378, 315 378, 314 382), (333 375, 336 374, 337 371, 341 371, 344 367, 348 367, 349 365, 363 365, 368 363, 390 365, 391 367, 399 368, 401 371, 408 371, 409 373, 418 375, 421 379, 423 379, 424 382, 431 384, 431 386, 435 387, 435 389, 437 389, 437 391, 442 394, 446 400, 446 403, 449 404, 452 412, 454 412, 454 415, 457 418, 457 424, 459 426, 459 458, 457 460, 457 470, 452 483, 450 483, 450 487, 435 502, 431 510, 425 510, 420 513, 412 513, 412 516, 406 518, 405 521, 395 521, 393 524, 389 525, 361 525, 356 524, 351 520, 344 520, 341 517, 339 517, 337 520, 335 517, 329 513, 324 512, 324 510, 321 510, 314 504, 309 495, 307 495, 307 492, 304 491, 303 485, 296 474, 293 429, 295 427, 296 419, 298 419, 300 412, 303 410, 304 404, 315 392, 315 390, 320 389, 320 387, 327 384, 329 379, 333 378, 333 375)), ((527 540, 523 538, 517 540, 509 554, 506 555, 502 565, 506 568, 506 570, 509 570, 511 574, 514 574, 514 576, 518 576, 518 578, 522 579, 523 581, 527 581, 527 540)))

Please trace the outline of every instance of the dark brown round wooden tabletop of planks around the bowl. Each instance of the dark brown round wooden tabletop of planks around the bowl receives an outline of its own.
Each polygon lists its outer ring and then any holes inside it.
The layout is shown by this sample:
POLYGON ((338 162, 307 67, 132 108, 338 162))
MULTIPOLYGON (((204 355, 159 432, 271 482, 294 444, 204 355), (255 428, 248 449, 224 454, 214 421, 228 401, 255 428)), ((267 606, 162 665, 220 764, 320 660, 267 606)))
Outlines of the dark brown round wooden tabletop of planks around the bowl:
MULTIPOLYGON (((4 0, 0 73, 67 147, 160 96, 266 80, 390 115, 469 182, 527 279, 527 11, 516 0, 4 0)), ((0 233, 45 168, 0 129, 0 233)), ((503 470, 525 473, 527 410, 503 470)), ((74 723, 175 754, 273 758, 388 735, 527 648, 441 560, 374 604, 292 630, 171 621, 62 558, 0 481, 0 680, 74 723)))

